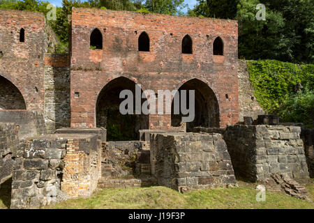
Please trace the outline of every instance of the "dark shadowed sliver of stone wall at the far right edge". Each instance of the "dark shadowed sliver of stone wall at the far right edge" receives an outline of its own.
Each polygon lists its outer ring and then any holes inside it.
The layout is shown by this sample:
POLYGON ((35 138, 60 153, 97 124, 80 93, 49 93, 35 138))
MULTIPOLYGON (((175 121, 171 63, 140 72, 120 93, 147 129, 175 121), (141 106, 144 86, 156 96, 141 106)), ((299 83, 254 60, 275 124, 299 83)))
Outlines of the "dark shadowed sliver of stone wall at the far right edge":
POLYGON ((314 178, 314 129, 301 128, 301 139, 304 142, 308 172, 314 178))

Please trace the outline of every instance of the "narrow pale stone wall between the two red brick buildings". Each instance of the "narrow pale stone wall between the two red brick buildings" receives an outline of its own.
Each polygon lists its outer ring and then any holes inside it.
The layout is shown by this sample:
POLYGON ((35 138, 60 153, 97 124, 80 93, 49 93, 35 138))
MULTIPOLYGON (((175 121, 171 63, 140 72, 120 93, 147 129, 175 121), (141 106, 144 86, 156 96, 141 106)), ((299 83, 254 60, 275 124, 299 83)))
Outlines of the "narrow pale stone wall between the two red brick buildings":
POLYGON ((47 133, 70 127, 68 54, 45 54, 45 125, 47 133))

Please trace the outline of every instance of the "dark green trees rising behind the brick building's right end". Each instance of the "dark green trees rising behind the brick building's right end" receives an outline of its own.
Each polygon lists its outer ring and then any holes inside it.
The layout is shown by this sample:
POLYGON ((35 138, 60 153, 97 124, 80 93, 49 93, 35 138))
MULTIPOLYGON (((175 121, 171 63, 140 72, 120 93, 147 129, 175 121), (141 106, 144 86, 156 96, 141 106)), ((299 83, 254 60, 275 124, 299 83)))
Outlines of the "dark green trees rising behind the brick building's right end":
POLYGON ((239 22, 239 56, 292 63, 314 61, 313 0, 197 0, 189 16, 234 19, 239 22), (266 6, 266 21, 256 20, 258 3, 266 6))

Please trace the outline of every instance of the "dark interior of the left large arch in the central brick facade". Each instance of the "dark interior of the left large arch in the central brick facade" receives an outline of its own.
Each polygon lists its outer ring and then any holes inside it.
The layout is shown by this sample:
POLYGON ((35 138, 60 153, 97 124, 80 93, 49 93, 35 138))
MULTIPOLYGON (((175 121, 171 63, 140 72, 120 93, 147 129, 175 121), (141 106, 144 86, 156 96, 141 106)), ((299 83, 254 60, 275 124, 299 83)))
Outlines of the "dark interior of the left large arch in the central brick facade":
MULTIPOLYGON (((123 90, 133 92, 135 107, 135 82, 126 77, 118 77, 106 84, 98 95, 96 103, 96 125, 107 129, 107 141, 128 141, 140 139, 139 130, 148 129, 149 117, 144 114, 122 115, 119 106, 125 98, 119 98, 123 90)), ((142 92, 141 92, 142 93, 142 92)), ((142 103, 146 99, 142 99, 142 103)))

